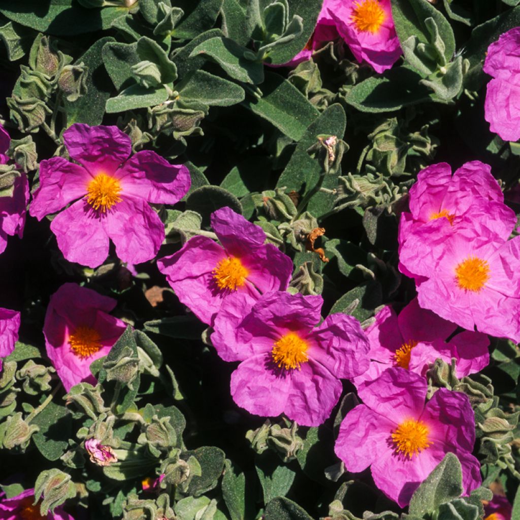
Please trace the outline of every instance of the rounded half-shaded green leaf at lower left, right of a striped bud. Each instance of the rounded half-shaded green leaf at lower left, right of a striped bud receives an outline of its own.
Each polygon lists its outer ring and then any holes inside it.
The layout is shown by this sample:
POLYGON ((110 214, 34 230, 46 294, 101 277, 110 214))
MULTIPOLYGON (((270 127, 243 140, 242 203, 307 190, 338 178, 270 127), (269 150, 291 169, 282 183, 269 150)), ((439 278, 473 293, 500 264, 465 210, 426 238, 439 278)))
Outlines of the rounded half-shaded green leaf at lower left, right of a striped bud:
POLYGON ((49 404, 31 421, 40 427, 33 435, 34 444, 48 460, 58 460, 72 437, 72 415, 64 406, 49 404))

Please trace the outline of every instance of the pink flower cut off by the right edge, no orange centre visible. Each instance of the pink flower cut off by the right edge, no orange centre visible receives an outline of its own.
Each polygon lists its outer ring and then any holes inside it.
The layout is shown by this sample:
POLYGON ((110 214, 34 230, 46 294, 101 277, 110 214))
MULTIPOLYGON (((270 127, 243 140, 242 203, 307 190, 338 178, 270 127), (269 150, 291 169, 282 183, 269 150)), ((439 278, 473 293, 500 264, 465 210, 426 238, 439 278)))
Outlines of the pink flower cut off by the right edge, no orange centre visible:
POLYGON ((484 72, 487 85, 484 117, 491 132, 505 141, 520 139, 520 27, 500 35, 487 50, 484 72))

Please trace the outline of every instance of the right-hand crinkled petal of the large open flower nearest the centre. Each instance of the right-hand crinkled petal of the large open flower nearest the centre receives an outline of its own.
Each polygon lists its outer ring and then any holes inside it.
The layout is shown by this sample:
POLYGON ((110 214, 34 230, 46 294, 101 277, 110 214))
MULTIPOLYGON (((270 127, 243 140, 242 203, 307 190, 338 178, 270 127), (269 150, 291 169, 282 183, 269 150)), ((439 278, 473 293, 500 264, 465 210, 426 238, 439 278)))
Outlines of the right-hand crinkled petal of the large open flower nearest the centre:
POLYGON ((307 355, 336 378, 350 379, 368 369, 369 343, 356 318, 332 314, 307 337, 307 355))

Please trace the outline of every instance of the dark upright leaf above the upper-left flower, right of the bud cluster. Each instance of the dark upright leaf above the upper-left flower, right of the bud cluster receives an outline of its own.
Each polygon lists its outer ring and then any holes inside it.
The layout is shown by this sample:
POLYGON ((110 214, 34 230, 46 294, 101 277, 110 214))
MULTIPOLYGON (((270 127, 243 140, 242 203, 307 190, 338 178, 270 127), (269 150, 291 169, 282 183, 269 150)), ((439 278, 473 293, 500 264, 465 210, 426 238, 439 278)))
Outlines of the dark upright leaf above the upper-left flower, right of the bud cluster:
POLYGON ((102 123, 112 84, 101 59, 101 51, 106 43, 113 41, 114 38, 111 36, 101 38, 76 60, 76 63, 83 62, 88 67, 88 89, 86 94, 76 101, 67 101, 67 99, 63 101, 67 126, 73 123, 86 123, 92 126, 102 123))

